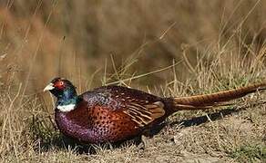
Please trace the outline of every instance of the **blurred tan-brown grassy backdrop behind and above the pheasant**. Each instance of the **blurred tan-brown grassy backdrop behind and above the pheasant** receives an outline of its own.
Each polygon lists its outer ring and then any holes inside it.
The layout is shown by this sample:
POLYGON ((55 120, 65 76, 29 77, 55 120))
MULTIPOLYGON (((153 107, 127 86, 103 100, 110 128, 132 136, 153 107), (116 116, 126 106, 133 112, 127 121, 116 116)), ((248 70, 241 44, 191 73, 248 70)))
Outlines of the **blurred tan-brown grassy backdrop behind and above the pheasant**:
MULTIPOLYGON (((36 89, 55 76, 86 81, 84 88, 102 84, 105 65, 107 77, 112 77, 107 82, 112 82, 185 57, 176 66, 178 80, 184 81, 193 77, 189 67, 199 58, 210 64, 218 55, 256 55, 266 36, 265 8, 266 2, 257 0, 4 0, 0 53, 13 64, 2 67, 15 69, 19 81, 28 80, 36 89), (111 76, 111 55, 117 71, 135 63, 122 75, 111 76)), ((172 79, 170 72, 155 73, 138 79, 138 85, 164 84, 167 79, 172 79)))

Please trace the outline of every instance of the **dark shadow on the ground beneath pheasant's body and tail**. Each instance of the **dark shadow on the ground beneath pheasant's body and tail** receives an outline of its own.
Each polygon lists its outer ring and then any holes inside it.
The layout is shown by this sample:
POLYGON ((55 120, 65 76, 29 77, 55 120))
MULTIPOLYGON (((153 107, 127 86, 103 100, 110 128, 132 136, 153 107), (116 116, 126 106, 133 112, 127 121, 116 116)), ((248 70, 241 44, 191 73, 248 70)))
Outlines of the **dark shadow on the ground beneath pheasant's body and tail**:
MULTIPOLYGON (((259 105, 261 103, 253 104, 252 107, 255 107, 256 105, 259 105)), ((247 108, 250 108, 251 106, 243 106, 243 107, 235 107, 235 108, 228 108, 224 110, 219 110, 218 112, 214 112, 211 114, 208 114, 208 117, 206 115, 200 116, 200 117, 194 117, 189 120, 180 120, 180 121, 173 121, 173 122, 163 122, 153 129, 150 130, 150 137, 153 137, 154 135, 159 134, 161 129, 163 129, 165 126, 169 125, 170 127, 180 124, 184 128, 188 128, 191 126, 198 126, 200 124, 209 122, 210 120, 220 120, 225 116, 232 115, 233 113, 239 112, 241 110, 246 110, 247 108)), ((116 149, 121 148, 128 144, 135 144, 139 145, 141 143, 140 136, 134 139, 130 139, 128 141, 122 141, 118 143, 104 143, 104 144, 97 144, 97 145, 88 145, 86 143, 77 141, 77 139, 71 139, 63 134, 60 134, 59 136, 56 136, 54 139, 51 139, 50 141, 46 141, 43 143, 40 143, 40 147, 44 150, 52 149, 52 148, 59 148, 59 149, 74 149, 79 154, 83 153, 89 153, 89 154, 95 154, 97 149, 116 149)))

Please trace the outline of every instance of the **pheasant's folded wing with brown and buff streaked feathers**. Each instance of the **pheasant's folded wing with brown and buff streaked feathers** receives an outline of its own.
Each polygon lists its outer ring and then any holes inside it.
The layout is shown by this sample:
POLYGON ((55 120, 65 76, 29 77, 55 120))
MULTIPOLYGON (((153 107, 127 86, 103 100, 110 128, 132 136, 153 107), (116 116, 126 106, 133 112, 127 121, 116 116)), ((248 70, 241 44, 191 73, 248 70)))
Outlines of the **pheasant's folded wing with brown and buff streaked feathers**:
POLYGON ((107 106, 109 110, 122 111, 139 127, 144 127, 165 115, 162 99, 144 91, 107 86, 97 88, 93 92, 96 93, 94 97, 97 97, 97 104, 107 106))

